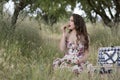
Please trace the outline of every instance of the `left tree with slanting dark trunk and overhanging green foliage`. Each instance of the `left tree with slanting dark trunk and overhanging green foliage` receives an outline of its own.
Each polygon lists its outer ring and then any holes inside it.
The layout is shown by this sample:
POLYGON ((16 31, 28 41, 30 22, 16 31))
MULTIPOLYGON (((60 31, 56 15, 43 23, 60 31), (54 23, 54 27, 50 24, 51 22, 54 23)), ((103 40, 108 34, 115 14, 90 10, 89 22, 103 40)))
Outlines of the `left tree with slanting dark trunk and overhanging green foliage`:
POLYGON ((35 11, 36 8, 40 8, 42 12, 39 13, 38 17, 41 17, 51 25, 67 14, 67 5, 71 4, 72 9, 76 5, 76 2, 72 2, 72 0, 19 0, 19 3, 16 3, 16 0, 14 0, 14 2, 16 7, 11 21, 12 29, 15 29, 14 25, 16 24, 19 12, 27 5, 30 5, 31 12, 35 11))

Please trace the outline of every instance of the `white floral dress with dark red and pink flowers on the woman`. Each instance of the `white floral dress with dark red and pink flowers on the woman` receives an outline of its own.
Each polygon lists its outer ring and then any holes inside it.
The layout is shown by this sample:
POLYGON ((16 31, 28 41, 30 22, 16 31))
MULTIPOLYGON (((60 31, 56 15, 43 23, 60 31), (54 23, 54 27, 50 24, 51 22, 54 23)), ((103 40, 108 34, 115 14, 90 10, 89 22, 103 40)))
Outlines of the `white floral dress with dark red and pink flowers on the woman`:
POLYGON ((87 61, 79 63, 79 59, 84 56, 84 45, 79 43, 76 45, 72 42, 67 42, 67 53, 63 58, 57 58, 53 61, 53 67, 57 68, 67 68, 73 72, 80 73, 85 67, 87 67, 87 61))

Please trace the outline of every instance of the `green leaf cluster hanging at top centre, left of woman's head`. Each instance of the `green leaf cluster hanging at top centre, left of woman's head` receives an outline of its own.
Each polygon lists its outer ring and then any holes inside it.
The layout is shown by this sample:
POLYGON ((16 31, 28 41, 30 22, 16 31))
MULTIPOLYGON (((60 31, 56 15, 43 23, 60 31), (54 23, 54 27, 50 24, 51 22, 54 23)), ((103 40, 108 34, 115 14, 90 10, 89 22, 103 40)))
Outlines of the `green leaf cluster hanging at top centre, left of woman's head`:
MULTIPOLYGON (((35 9, 39 7, 42 10, 40 16, 43 20, 46 21, 47 24, 53 25, 56 23, 59 18, 63 18, 67 16, 66 6, 71 3, 70 1, 58 1, 58 0, 44 0, 44 1, 36 1, 35 9), (46 4, 47 3, 47 4, 46 4)), ((75 6, 75 3, 72 3, 75 6)))

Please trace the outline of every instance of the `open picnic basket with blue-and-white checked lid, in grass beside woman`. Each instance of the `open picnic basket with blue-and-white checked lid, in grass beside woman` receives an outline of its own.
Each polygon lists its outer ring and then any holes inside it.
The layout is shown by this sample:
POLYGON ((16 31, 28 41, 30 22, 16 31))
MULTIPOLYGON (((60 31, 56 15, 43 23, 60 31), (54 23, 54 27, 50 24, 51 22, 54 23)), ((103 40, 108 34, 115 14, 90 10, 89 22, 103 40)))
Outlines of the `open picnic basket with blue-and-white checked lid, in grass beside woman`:
POLYGON ((98 64, 100 74, 112 73, 114 64, 120 66, 120 46, 99 48, 98 64))

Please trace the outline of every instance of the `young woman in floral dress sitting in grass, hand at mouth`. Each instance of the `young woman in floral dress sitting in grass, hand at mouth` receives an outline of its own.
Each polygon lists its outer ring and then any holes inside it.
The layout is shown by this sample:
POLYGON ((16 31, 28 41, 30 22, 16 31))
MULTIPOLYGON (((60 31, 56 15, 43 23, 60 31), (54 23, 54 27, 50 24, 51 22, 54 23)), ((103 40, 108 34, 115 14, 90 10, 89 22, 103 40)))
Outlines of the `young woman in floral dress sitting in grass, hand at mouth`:
POLYGON ((69 23, 62 27, 60 50, 65 51, 65 55, 53 61, 54 69, 67 68, 76 73, 83 71, 89 54, 89 39, 80 15, 72 14, 69 23))

